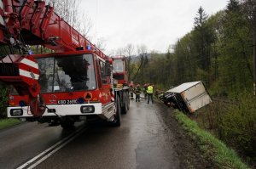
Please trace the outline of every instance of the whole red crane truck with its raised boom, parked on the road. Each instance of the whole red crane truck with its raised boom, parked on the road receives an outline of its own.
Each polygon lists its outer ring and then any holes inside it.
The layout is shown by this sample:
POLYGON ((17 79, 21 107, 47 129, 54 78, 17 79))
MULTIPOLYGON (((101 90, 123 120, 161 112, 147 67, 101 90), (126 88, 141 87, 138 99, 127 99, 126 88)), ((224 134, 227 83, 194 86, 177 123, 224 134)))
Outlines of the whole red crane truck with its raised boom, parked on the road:
MULTIPOLYGON (((20 54, 0 58, 0 81, 15 87, 8 117, 63 128, 100 117, 120 126, 128 87, 113 87, 113 59, 102 53, 44 1, 0 0, 0 44, 20 54), (55 53, 32 54, 28 45, 55 53)), ((12 51, 12 50, 11 50, 12 51)))

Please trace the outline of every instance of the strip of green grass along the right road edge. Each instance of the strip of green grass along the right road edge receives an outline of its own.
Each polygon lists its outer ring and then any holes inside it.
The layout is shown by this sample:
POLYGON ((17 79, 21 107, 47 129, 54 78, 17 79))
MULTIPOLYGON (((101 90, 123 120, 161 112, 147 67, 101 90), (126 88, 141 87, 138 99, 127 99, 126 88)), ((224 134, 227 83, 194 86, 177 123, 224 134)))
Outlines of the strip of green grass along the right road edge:
POLYGON ((189 132, 189 136, 198 144, 203 155, 212 161, 219 168, 249 168, 236 155, 236 152, 229 149, 224 143, 214 138, 210 132, 206 132, 198 127, 195 121, 192 121, 181 112, 176 112, 177 120, 183 128, 189 132))

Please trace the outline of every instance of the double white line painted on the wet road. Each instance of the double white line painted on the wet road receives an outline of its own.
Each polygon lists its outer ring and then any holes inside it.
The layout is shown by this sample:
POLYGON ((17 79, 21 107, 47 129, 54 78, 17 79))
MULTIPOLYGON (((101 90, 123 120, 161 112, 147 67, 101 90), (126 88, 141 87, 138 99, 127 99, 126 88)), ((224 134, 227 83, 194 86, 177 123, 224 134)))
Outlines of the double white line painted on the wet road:
POLYGON ((22 166, 19 166, 17 169, 24 169, 24 168, 32 169, 35 166, 38 166, 41 162, 43 162, 46 159, 48 159, 50 155, 55 154, 55 152, 57 152, 59 149, 61 149, 66 144, 71 142, 74 138, 77 138, 82 132, 84 132, 85 129, 86 128, 82 127, 77 132, 74 132, 73 134, 67 136, 66 138, 61 139, 61 141, 59 141, 58 143, 54 144, 49 149, 44 150, 42 153, 40 153, 39 155, 35 156, 30 161, 26 161, 25 164, 23 164, 22 166))

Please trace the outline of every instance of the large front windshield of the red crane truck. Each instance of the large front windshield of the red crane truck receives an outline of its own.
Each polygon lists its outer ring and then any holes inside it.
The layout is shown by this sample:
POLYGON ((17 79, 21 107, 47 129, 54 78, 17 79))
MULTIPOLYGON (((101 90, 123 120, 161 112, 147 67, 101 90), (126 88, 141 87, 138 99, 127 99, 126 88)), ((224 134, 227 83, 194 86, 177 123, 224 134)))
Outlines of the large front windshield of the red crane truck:
POLYGON ((37 60, 41 93, 96 89, 92 54, 58 56, 37 60))

